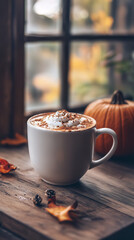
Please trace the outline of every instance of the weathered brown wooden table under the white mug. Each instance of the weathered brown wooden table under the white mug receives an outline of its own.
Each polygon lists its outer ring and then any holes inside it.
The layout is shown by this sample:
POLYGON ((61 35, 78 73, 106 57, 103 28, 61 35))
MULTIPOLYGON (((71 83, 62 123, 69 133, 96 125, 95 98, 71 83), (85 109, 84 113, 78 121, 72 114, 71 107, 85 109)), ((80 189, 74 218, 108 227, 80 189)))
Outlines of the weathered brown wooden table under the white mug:
POLYGON ((26 146, 0 148, 0 156, 18 169, 0 174, 0 240, 10 239, 134 239, 134 159, 114 159, 88 171, 77 184, 56 187, 44 183, 34 172, 26 146), (76 223, 58 223, 45 207, 33 204, 54 189, 58 203, 78 200, 76 223))

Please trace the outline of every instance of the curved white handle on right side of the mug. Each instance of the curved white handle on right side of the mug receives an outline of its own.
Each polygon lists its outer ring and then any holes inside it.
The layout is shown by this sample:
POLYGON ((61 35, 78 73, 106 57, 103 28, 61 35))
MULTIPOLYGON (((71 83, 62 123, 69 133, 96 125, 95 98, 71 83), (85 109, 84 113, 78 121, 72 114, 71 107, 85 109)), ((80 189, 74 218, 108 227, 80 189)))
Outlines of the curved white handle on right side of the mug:
POLYGON ((104 134, 104 133, 108 133, 108 134, 110 134, 112 136, 112 138, 113 138, 113 145, 112 145, 111 149, 109 150, 109 152, 104 157, 100 158, 99 160, 93 160, 92 159, 90 168, 97 167, 101 163, 107 161, 108 159, 110 159, 112 157, 112 155, 116 151, 118 140, 117 140, 117 135, 116 135, 115 131, 113 131, 110 128, 100 128, 100 129, 96 129, 95 130, 96 138, 100 134, 104 134))

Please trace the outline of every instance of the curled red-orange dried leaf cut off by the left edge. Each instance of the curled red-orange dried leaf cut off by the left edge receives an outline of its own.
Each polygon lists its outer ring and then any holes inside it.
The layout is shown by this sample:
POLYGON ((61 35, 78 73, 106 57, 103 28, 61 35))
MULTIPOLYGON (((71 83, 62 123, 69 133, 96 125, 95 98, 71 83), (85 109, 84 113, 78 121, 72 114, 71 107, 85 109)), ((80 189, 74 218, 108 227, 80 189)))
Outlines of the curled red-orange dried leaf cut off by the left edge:
POLYGON ((6 174, 15 169, 16 166, 9 163, 7 160, 0 158, 0 173, 6 174))

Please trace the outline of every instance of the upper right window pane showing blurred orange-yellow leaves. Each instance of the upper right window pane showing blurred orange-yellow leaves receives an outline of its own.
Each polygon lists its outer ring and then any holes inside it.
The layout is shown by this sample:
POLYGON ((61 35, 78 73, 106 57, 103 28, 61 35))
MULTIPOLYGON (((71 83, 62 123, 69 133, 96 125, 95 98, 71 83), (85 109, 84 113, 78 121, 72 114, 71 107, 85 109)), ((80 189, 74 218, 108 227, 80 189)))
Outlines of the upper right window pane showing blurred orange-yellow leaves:
POLYGON ((73 0, 73 32, 134 32, 133 0, 73 0))

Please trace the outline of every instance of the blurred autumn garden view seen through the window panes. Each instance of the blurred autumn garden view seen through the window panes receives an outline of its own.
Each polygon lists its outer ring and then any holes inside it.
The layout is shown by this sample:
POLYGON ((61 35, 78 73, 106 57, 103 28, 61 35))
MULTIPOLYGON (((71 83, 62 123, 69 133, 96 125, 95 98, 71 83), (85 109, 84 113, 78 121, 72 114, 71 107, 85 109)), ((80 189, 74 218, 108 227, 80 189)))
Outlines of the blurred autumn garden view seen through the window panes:
POLYGON ((25 113, 62 107, 64 78, 69 108, 85 106, 115 89, 134 98, 134 41, 130 39, 134 33, 134 1, 69 2, 70 21, 66 21, 72 38, 66 40, 68 69, 61 74, 64 39, 55 40, 55 36, 64 32, 63 3, 25 1, 25 113), (30 42, 28 36, 40 38, 31 38, 30 42), (52 37, 47 41, 45 36, 52 37))

